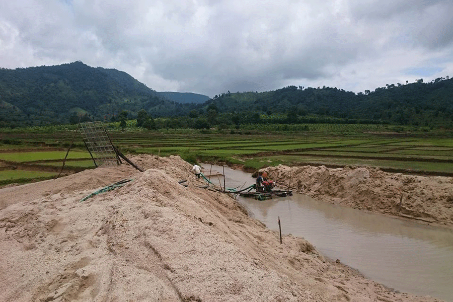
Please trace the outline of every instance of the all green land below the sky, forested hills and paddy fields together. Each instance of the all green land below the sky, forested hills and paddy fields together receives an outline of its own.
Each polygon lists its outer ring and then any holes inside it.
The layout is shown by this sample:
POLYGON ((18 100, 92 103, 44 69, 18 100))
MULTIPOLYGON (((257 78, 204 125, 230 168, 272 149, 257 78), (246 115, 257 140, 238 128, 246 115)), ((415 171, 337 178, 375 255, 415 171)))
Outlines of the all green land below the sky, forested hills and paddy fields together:
MULTIPOLYGON (((206 100, 160 94, 125 72, 74 62, 0 68, 0 95, 2 171, 59 171, 79 121, 96 119, 110 121, 105 128, 123 153, 180 155, 191 163, 250 170, 353 165, 453 175, 453 79, 448 77, 358 94, 288 86, 206 100)), ((66 172, 93 168, 90 155, 81 151, 80 134, 72 147, 66 172)))

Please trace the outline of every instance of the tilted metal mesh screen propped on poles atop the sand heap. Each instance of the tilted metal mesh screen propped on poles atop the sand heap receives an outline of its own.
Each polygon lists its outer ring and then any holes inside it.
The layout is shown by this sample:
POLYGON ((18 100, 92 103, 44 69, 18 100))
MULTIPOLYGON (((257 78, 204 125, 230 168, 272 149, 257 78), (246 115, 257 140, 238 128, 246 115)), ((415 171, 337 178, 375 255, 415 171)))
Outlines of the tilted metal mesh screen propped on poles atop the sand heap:
POLYGON ((101 122, 81 123, 80 131, 96 166, 119 163, 112 142, 101 122))

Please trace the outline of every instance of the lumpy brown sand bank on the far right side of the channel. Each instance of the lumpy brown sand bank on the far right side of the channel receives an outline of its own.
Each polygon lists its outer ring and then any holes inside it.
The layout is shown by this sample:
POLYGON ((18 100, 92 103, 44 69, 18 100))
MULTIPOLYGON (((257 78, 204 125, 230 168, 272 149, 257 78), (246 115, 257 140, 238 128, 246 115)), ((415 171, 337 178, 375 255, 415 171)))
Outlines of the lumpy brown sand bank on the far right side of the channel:
POLYGON ((282 186, 331 203, 453 225, 453 178, 386 173, 377 168, 266 168, 282 186), (290 180, 291 179, 291 180, 290 180))

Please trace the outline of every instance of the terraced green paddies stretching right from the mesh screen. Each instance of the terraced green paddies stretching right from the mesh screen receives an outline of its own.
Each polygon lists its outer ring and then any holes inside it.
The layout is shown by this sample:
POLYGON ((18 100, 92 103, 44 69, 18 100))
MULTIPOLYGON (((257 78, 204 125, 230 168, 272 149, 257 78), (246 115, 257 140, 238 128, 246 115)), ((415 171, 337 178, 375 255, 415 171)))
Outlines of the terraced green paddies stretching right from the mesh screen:
POLYGON ((448 175, 453 171, 449 137, 398 133, 129 133, 116 139, 131 153, 180 155, 189 162, 208 161, 265 166, 328 165, 371 166, 405 173, 448 175), (145 138, 147 137, 147 139, 145 138), (420 149, 422 148, 422 149, 420 149))

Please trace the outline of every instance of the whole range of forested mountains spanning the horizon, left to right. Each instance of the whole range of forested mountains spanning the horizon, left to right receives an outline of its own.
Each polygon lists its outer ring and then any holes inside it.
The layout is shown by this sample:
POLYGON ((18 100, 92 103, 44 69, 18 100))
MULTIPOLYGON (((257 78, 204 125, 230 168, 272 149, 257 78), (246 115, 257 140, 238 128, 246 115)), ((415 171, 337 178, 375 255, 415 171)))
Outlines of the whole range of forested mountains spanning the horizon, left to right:
POLYGON ((241 123, 394 123, 453 128, 453 79, 391 84, 355 94, 343 89, 288 86, 275 91, 158 93, 116 69, 80 61, 29 68, 0 68, 0 127, 111 120, 144 109, 173 126, 241 123), (207 100, 207 101, 206 101, 207 100), (204 102, 206 101, 206 102, 204 102), (187 103, 190 102, 190 103, 187 103), (198 103, 198 104, 196 104, 198 103))

